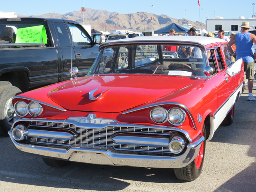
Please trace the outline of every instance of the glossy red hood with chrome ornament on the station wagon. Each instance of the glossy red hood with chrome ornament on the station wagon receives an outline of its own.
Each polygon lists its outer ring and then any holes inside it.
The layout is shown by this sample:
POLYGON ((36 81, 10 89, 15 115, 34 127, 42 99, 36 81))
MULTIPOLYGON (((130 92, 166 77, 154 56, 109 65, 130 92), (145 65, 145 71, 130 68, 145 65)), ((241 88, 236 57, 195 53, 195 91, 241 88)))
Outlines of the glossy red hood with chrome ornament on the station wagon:
POLYGON ((106 75, 74 79, 48 97, 67 110, 122 112, 156 100, 191 83, 190 78, 155 75, 106 75))

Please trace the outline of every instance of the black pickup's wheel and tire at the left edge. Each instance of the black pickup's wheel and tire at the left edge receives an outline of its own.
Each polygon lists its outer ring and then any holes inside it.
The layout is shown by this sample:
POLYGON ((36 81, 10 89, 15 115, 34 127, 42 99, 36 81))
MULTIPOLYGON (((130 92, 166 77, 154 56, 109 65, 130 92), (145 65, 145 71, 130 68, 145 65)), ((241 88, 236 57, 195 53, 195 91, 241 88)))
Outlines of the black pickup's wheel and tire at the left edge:
POLYGON ((22 93, 14 86, 0 86, 0 135, 6 136, 11 129, 12 123, 18 119, 14 112, 12 98, 22 93))

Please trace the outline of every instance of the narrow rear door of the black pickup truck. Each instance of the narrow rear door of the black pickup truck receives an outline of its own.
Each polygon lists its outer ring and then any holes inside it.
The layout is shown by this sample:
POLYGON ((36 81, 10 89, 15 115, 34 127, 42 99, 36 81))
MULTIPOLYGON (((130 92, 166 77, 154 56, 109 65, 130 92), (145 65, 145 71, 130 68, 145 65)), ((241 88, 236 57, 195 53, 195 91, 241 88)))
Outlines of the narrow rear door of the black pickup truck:
POLYGON ((58 39, 58 44, 56 44, 56 48, 57 51, 60 52, 60 58, 58 58, 60 81, 65 81, 71 78, 71 74, 70 72, 68 72, 68 70, 71 69, 72 66, 76 66, 76 56, 74 49, 71 46, 71 41, 65 23, 54 22, 54 28, 58 39))

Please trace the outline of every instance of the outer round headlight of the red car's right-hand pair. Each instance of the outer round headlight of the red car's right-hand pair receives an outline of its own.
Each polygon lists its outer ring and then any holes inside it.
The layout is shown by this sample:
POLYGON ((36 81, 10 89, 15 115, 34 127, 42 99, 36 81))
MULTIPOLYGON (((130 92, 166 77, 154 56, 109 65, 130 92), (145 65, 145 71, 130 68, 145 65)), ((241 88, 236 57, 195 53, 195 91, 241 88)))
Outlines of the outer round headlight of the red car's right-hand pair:
POLYGON ((181 125, 186 118, 186 113, 180 108, 171 108, 168 112, 168 119, 173 125, 181 125))

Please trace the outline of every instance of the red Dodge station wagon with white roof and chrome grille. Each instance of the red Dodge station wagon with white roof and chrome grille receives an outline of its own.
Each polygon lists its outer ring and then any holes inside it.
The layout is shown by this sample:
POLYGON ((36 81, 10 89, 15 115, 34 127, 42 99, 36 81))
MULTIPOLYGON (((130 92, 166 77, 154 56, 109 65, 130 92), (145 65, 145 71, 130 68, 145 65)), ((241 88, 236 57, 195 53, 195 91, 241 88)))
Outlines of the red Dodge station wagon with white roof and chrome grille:
POLYGON ((177 178, 192 181, 202 171, 206 140, 220 124, 232 124, 243 80, 242 59, 233 63, 218 38, 107 42, 87 76, 15 96, 19 119, 8 133, 18 150, 49 166, 174 168, 177 178), (194 53, 172 58, 162 46, 194 53))

